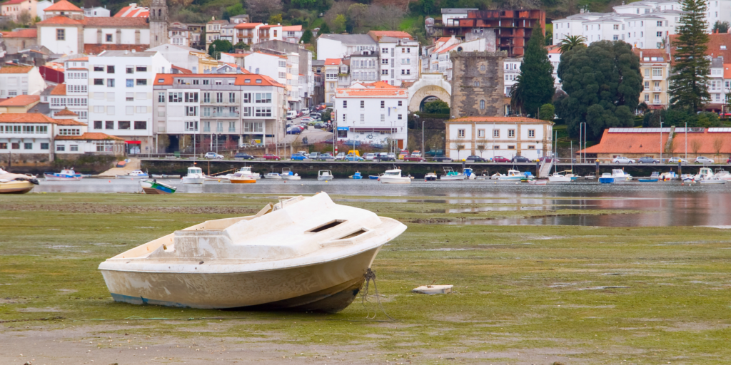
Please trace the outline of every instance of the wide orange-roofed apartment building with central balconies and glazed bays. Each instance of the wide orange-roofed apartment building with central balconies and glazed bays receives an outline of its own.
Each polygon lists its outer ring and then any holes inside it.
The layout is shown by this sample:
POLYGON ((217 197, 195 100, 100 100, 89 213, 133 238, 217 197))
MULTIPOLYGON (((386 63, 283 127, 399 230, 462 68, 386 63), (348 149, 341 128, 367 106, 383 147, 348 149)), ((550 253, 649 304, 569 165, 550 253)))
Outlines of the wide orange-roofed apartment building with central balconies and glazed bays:
POLYGON ((284 85, 263 74, 158 74, 154 93, 155 132, 171 141, 196 135, 213 148, 284 139, 284 85))

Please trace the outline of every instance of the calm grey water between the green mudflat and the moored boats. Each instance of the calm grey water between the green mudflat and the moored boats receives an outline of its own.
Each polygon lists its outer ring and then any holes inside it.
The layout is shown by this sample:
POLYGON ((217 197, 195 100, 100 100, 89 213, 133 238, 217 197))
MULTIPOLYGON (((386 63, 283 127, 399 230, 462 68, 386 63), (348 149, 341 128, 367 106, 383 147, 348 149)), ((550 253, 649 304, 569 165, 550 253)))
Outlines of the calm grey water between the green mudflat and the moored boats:
MULTIPOLYGON (((336 179, 330 182, 300 180, 257 180, 256 184, 206 182, 183 185, 180 180, 160 180, 178 187, 177 193, 265 193, 277 195, 352 195, 344 201, 390 201, 409 204, 526 204, 525 207, 445 207, 435 212, 479 212, 490 210, 640 210, 629 215, 572 215, 564 217, 472 220, 467 224, 569 225, 569 226, 731 226, 731 183, 724 185, 681 185, 668 183, 567 183, 527 185, 485 181, 424 182, 385 185, 376 180, 336 179), (380 196, 358 199, 357 196, 380 196), (429 199, 420 199, 420 197, 429 199), (443 199, 434 199, 443 197, 443 199), (542 204, 548 207, 531 207, 542 204)), ((135 180, 84 179, 78 182, 45 181, 34 192, 132 193, 140 191, 135 180)), ((460 223, 465 224, 465 223, 460 223)))

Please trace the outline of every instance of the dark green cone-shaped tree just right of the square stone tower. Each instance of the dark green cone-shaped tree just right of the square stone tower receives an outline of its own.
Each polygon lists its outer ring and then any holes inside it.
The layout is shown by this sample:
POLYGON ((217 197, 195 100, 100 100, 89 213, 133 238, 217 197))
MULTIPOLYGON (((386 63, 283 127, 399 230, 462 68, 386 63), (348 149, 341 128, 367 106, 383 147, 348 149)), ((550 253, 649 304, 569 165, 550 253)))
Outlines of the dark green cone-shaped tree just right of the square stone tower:
POLYGON ((538 117, 538 110, 548 104, 556 89, 553 87, 553 66, 548 61, 548 50, 543 46, 545 37, 540 23, 531 31, 523 63, 520 64, 520 85, 515 85, 518 98, 523 101, 526 114, 538 117))

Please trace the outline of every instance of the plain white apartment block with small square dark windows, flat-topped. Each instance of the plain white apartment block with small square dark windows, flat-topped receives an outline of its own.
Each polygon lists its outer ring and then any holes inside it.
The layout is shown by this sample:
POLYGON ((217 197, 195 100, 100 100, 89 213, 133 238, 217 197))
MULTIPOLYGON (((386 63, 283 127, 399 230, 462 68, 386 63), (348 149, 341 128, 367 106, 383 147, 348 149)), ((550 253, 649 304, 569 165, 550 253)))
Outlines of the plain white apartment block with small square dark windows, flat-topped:
POLYGON ((170 72, 170 61, 158 52, 105 51, 89 56, 88 67, 89 130, 126 139, 131 153, 149 152, 154 77, 170 72))

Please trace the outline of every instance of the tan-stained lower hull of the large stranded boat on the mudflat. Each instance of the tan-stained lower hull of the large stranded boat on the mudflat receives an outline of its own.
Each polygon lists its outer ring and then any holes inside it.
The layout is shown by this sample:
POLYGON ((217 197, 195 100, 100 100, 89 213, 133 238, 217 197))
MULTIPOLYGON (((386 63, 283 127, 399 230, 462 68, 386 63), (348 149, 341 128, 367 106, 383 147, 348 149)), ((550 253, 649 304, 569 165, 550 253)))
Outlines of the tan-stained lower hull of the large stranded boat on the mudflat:
POLYGON ((258 272, 237 272, 237 266, 246 264, 213 261, 148 264, 147 269, 135 271, 125 271, 125 261, 105 262, 99 269, 112 298, 131 304, 338 312, 355 299, 363 275, 380 249, 375 247, 335 261, 258 272), (208 271, 181 272, 181 266, 208 271), (210 266, 220 267, 211 272, 210 266))

